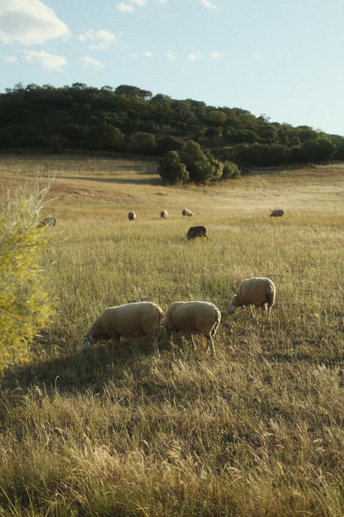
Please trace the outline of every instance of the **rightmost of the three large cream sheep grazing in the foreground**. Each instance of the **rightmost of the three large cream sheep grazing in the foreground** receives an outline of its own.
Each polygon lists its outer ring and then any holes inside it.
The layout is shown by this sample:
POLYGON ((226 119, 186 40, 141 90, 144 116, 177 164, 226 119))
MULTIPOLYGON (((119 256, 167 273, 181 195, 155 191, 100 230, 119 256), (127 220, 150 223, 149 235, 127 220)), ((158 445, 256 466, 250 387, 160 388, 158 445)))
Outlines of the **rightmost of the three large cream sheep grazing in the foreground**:
POLYGON ((270 312, 275 304, 276 287, 270 278, 253 276, 246 278, 239 284, 237 294, 229 303, 229 314, 234 314, 239 307, 250 305, 250 314, 254 318, 252 305, 257 309, 257 320, 259 312, 268 311, 268 323, 270 324, 270 312))

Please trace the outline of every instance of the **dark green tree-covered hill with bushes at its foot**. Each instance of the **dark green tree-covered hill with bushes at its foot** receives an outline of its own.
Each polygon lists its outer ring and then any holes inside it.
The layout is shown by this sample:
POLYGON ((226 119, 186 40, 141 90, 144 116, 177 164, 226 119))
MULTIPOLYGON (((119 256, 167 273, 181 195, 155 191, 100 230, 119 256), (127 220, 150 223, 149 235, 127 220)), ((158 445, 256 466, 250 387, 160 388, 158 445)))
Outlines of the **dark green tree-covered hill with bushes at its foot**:
MULTIPOLYGON (((0 149, 178 153, 189 181, 225 177, 223 162, 244 166, 344 159, 344 137, 270 122, 241 108, 216 108, 119 85, 54 88, 21 83, 0 94, 0 149)), ((169 155, 171 159, 171 155, 169 155)), ((178 180, 179 181, 179 180, 178 180)))

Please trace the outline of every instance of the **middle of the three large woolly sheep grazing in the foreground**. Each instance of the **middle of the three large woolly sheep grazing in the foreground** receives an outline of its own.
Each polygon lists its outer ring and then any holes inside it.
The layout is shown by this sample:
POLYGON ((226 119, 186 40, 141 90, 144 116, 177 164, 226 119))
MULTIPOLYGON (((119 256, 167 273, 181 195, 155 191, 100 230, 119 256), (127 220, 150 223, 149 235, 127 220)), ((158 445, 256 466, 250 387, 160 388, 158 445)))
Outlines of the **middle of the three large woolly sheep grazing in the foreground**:
POLYGON ((206 338, 206 353, 211 350, 211 356, 215 355, 213 336, 221 321, 221 312, 210 302, 189 301, 173 302, 167 309, 164 330, 168 338, 172 338, 178 332, 191 335, 193 347, 196 348, 193 339, 194 334, 203 334, 206 338))

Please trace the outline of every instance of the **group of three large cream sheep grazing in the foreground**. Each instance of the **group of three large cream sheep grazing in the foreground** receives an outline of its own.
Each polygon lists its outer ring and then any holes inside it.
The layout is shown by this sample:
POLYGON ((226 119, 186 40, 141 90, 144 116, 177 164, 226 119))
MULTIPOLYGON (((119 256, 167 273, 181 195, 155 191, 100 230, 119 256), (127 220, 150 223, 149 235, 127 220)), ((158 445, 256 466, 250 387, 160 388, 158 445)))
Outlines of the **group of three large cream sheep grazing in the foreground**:
MULTIPOLYGON (((243 280, 229 303, 229 314, 234 314, 239 307, 252 306, 259 312, 270 312, 275 304, 276 287, 270 278, 254 276, 243 280)), ((162 324, 163 312, 156 303, 142 301, 126 303, 117 307, 107 307, 84 334, 81 350, 104 339, 114 345, 120 344, 120 338, 137 338, 147 336, 156 348, 158 345, 158 327, 162 324)), ((168 338, 175 338, 183 333, 191 336, 196 347, 194 335, 202 334, 206 338, 206 352, 215 355, 213 336, 221 321, 221 312, 213 303, 206 301, 176 301, 166 311, 164 331, 168 338)))

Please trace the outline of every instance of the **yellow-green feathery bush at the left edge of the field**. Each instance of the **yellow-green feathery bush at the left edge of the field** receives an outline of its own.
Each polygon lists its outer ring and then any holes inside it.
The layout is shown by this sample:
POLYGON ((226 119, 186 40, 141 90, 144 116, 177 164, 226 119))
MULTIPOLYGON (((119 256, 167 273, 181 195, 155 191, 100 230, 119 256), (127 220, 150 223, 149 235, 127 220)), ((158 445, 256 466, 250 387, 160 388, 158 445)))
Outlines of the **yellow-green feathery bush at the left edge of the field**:
POLYGON ((37 227, 44 194, 17 192, 1 206, 0 373, 28 358, 35 333, 53 312, 40 263, 47 237, 37 227))

